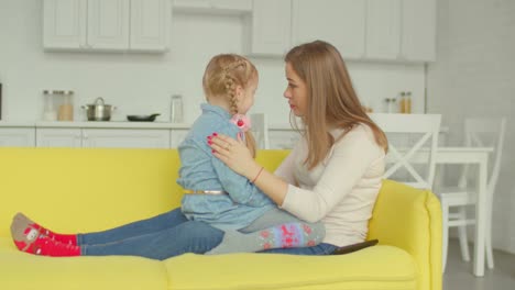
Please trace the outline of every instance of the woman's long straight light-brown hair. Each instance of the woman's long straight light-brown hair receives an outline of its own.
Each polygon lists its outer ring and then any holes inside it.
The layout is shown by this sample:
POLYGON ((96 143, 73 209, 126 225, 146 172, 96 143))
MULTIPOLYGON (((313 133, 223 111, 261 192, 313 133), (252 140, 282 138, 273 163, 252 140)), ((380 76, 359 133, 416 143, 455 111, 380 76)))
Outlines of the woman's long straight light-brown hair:
POLYGON ((306 43, 292 48, 285 62, 307 86, 307 112, 303 116, 309 169, 322 161, 330 148, 355 125, 371 127, 377 145, 387 150, 384 132, 366 115, 352 87, 343 58, 335 46, 322 41, 306 43), (329 130, 344 129, 335 140, 329 130))

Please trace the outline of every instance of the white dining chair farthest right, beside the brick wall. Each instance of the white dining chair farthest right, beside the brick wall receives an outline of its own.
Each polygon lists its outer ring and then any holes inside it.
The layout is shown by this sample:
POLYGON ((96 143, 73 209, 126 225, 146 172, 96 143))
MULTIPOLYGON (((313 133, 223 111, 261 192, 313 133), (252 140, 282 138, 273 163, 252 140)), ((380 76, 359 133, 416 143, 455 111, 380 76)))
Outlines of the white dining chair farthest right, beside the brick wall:
MULTIPOLYGON (((506 119, 473 118, 464 121, 464 145, 469 147, 494 147, 489 160, 489 179, 486 185, 487 222, 485 225, 485 250, 486 265, 490 269, 494 267, 492 252, 492 204, 495 186, 501 170, 501 158, 503 153, 504 134, 506 131, 506 119)), ((464 165, 458 179, 458 187, 441 188, 437 192, 440 197, 442 208, 442 261, 446 269, 449 228, 458 227, 461 257, 470 260, 469 244, 467 238, 467 226, 475 224, 475 219, 467 216, 467 207, 475 204, 478 192, 475 188, 469 188, 469 166, 464 165), (450 212, 450 208, 457 209, 450 212)))

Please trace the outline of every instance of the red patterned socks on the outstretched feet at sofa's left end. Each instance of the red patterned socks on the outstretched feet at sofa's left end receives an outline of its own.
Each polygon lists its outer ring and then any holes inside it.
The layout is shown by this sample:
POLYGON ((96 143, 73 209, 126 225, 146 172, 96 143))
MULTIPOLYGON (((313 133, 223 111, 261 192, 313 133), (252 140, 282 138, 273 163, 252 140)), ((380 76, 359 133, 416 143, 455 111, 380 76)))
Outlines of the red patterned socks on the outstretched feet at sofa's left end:
POLYGON ((29 254, 52 256, 52 257, 73 257, 80 256, 80 247, 64 244, 42 235, 40 230, 26 227, 23 232, 12 232, 14 245, 21 252, 29 254))

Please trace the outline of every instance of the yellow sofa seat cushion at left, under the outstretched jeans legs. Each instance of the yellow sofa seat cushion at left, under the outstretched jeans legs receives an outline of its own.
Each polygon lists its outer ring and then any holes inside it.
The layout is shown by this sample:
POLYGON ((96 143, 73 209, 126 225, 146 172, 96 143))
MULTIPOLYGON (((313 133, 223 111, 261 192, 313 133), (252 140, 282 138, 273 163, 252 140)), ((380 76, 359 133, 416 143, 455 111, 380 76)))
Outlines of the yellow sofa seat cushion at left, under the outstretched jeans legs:
POLYGON ((50 258, 0 237, 0 289, 167 289, 164 265, 140 257, 50 258))

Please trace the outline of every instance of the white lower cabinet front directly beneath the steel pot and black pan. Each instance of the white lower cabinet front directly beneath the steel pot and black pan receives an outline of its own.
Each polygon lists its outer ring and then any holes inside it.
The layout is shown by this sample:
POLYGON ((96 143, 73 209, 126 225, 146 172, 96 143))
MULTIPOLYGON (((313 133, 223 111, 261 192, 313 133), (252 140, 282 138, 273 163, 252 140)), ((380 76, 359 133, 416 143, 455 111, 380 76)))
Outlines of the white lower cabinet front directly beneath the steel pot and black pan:
POLYGON ((83 147, 168 148, 169 130, 83 129, 83 147))

